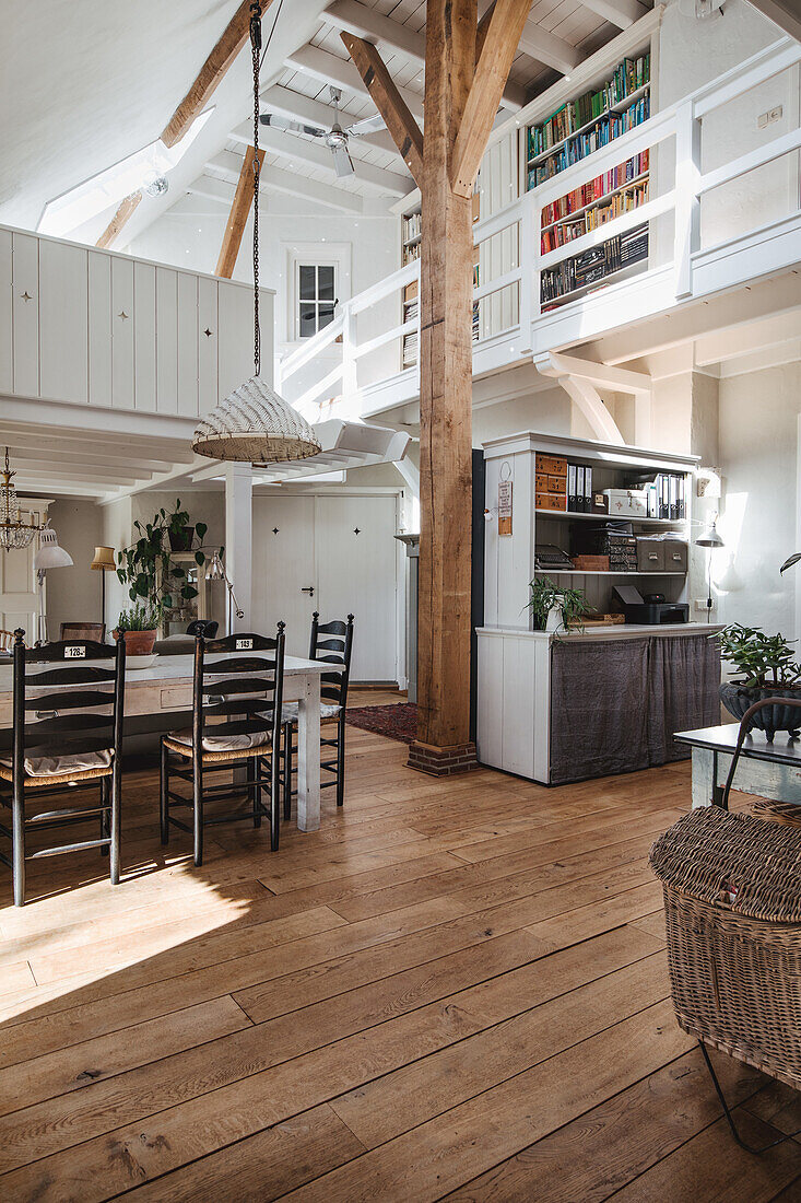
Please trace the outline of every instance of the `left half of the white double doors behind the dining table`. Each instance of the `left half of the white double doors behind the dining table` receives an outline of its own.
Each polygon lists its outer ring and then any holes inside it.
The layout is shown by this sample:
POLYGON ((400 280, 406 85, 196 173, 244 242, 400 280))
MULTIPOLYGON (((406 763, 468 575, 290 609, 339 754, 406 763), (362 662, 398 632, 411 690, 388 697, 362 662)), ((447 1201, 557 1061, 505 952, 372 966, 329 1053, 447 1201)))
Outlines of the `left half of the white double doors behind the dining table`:
POLYGON ((271 634, 281 620, 286 654, 304 658, 312 611, 318 609, 314 502, 314 497, 253 499, 254 630, 271 634))

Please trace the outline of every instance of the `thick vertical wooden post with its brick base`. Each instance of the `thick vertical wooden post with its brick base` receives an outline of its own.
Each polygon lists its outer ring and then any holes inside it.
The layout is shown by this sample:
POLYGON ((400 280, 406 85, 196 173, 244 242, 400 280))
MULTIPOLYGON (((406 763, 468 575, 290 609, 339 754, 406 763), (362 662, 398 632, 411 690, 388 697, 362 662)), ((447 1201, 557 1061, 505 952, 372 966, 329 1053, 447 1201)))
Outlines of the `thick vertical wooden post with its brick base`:
POLYGON ((476 0, 428 0, 420 274, 417 740, 409 764, 476 764, 470 743, 473 218, 451 156, 475 67, 476 0))

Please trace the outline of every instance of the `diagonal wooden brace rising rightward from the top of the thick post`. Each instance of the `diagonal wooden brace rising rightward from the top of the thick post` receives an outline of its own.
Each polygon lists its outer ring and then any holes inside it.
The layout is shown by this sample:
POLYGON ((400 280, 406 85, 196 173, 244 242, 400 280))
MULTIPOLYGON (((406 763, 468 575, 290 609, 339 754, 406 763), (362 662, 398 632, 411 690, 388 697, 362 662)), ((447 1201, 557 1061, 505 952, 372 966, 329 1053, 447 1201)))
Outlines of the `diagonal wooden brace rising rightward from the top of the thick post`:
POLYGON ((451 158, 451 188, 458 196, 469 196, 473 191, 529 2, 496 0, 492 10, 451 158))

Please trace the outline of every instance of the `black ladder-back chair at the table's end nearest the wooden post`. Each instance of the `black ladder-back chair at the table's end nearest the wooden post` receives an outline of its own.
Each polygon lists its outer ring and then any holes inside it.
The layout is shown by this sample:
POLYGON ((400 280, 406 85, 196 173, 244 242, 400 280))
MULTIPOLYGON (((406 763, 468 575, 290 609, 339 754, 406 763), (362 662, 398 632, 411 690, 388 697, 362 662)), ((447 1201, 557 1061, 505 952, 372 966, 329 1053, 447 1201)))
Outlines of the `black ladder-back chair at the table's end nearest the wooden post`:
MULTIPOLYGON (((354 616, 348 615, 348 621, 334 620, 333 622, 320 622, 319 611, 312 615, 312 639, 309 642, 309 659, 325 660, 327 664, 342 664, 338 672, 324 672, 320 677, 320 723, 324 731, 320 736, 321 748, 336 748, 336 755, 331 759, 320 760, 320 769, 328 774, 326 781, 320 782, 320 789, 334 786, 337 789, 337 806, 345 802, 345 704, 348 701, 348 683, 350 680, 350 658, 354 650, 354 616), (325 729, 331 729, 337 724, 337 735, 328 739, 325 729)), ((298 707, 296 701, 284 704, 284 766, 281 772, 284 784, 284 818, 289 819, 292 811, 292 796, 297 790, 292 789, 293 757, 297 751, 293 735, 297 730, 298 707)), ((325 755, 324 751, 324 755, 325 755)))

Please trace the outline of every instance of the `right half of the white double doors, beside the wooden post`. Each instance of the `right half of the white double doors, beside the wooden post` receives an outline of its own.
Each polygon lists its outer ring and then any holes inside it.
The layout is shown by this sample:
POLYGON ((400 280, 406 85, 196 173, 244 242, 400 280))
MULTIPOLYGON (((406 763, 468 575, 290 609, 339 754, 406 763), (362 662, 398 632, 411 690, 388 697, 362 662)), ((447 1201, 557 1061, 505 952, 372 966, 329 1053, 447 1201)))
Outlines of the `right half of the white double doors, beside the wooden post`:
POLYGON ((397 681, 397 500, 316 500, 320 617, 354 615, 354 681, 397 681))

